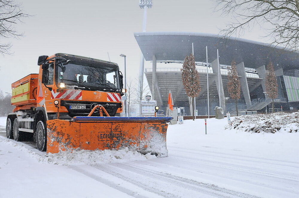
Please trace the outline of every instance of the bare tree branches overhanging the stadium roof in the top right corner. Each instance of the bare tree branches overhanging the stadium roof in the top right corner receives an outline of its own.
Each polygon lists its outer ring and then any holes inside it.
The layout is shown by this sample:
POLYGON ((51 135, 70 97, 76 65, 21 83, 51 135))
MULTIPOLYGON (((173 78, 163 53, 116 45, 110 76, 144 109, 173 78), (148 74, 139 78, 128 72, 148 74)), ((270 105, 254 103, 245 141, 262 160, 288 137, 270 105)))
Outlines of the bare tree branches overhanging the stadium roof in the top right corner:
POLYGON ((298 50, 299 0, 214 0, 216 10, 231 15, 235 21, 227 24, 220 34, 225 38, 239 36, 258 24, 266 29, 272 44, 298 50))

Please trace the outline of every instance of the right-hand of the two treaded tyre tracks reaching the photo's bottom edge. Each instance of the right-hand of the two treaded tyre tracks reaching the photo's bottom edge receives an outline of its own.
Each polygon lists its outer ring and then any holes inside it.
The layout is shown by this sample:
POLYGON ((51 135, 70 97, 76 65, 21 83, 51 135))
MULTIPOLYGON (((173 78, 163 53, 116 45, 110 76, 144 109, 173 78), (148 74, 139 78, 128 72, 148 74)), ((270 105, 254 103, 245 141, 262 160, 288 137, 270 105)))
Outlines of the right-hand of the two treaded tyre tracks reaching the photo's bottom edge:
POLYGON ((225 188, 220 188, 213 184, 207 184, 203 182, 197 182, 194 180, 189 180, 183 177, 178 177, 172 174, 167 174, 163 172, 157 172, 146 168, 132 166, 129 163, 119 164, 113 163, 110 164, 117 168, 121 168, 126 171, 135 172, 140 175, 144 175, 150 178, 155 178, 157 180, 168 182, 170 184, 177 185, 179 187, 184 187, 185 189, 190 189, 195 192, 202 194, 210 195, 212 197, 221 197, 221 198, 231 198, 231 197, 241 197, 241 198, 257 198, 256 196, 244 194, 237 191, 232 191, 225 188))

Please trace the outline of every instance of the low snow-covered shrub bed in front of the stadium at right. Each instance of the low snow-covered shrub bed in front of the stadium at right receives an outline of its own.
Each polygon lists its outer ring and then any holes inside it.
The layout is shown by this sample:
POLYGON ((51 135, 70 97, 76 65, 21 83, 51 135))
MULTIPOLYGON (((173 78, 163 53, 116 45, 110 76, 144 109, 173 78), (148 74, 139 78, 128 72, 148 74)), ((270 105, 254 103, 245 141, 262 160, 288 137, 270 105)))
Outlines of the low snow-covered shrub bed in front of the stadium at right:
POLYGON ((240 129, 245 132, 299 132, 299 112, 235 117, 225 129, 240 129))

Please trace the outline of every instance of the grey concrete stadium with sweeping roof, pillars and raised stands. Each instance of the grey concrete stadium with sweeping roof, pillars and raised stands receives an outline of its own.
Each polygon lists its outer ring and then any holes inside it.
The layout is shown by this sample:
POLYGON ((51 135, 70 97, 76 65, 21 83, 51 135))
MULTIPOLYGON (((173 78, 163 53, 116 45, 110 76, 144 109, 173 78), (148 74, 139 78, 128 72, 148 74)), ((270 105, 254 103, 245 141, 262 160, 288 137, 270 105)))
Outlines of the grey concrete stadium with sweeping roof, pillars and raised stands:
POLYGON ((241 98, 238 100, 240 111, 265 112, 266 106, 271 103, 270 98, 267 95, 265 98, 263 93, 266 92, 266 65, 270 61, 274 64, 278 83, 278 97, 274 100, 274 108, 282 107, 283 111, 290 112, 299 109, 298 53, 256 41, 239 38, 223 39, 218 35, 204 33, 137 32, 134 35, 145 60, 152 62, 152 68, 146 68, 144 73, 152 97, 157 100, 157 104, 162 109, 166 109, 168 92, 171 90, 174 105, 185 107, 185 113, 190 115, 189 100, 182 85, 180 68, 172 67, 171 63, 182 64, 186 55, 190 55, 192 50, 202 87, 199 96, 196 97, 196 109, 199 115, 207 115, 208 112, 208 87, 210 115, 214 114, 215 106, 219 106, 219 100, 226 112, 236 113, 234 100, 230 99, 227 91, 228 66, 232 61, 237 64, 241 82, 241 98), (208 86, 206 62, 208 62, 208 86), (165 64, 167 67, 157 68, 157 63, 167 63, 165 64), (218 75, 219 67, 221 78, 218 75))

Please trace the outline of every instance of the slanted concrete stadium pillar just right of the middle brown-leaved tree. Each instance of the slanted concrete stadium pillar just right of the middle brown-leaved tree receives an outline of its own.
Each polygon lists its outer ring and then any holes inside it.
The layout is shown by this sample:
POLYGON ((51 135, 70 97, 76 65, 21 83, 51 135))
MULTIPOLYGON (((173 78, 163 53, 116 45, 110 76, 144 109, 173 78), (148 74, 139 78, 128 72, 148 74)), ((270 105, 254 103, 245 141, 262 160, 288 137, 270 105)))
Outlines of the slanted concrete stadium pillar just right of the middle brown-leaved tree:
POLYGON ((246 103, 247 108, 249 108, 251 106, 251 98, 250 98, 250 94, 249 94, 249 88, 248 88, 248 83, 247 83, 244 62, 241 62, 241 63, 237 64, 236 66, 237 66, 238 75, 241 76, 241 77, 239 77, 239 79, 240 79, 240 84, 241 84, 242 92, 244 95, 245 103, 246 103))

